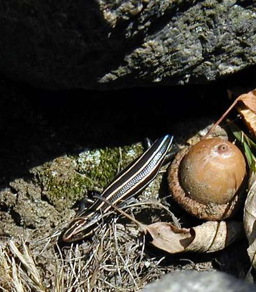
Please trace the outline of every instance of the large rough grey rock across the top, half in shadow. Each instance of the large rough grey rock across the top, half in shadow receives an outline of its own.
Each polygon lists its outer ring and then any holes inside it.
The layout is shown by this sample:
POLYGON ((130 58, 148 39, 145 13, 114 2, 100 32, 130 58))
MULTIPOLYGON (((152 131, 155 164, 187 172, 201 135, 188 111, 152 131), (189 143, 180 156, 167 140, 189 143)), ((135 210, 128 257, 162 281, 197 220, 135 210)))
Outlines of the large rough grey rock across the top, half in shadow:
POLYGON ((0 68, 49 89, 205 83, 256 63, 253 2, 9 0, 0 68))

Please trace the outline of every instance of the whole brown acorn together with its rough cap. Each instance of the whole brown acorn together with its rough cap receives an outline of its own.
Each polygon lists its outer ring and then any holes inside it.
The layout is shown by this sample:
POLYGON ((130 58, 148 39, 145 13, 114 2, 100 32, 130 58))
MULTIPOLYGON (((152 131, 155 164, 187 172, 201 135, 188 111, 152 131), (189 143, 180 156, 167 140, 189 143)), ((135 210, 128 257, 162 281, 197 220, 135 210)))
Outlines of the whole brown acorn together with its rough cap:
POLYGON ((224 220, 238 209, 245 177, 242 152, 220 138, 182 149, 168 170, 174 200, 191 215, 209 221, 224 220))

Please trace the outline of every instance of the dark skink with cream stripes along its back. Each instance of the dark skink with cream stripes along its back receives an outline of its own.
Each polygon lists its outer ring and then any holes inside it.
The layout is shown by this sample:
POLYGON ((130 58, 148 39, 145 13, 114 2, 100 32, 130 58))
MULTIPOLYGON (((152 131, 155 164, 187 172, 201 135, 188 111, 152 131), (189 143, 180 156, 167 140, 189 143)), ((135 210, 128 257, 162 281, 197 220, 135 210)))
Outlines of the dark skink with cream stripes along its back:
MULTIPOLYGON (((124 200, 141 192, 155 177, 165 160, 173 136, 165 135, 156 140, 137 160, 123 169, 112 183, 104 189, 101 197, 113 205, 119 205, 124 200)), ((99 226, 102 214, 112 207, 104 201, 97 200, 87 210, 74 219, 62 235, 63 242, 75 242, 91 236, 99 226)))

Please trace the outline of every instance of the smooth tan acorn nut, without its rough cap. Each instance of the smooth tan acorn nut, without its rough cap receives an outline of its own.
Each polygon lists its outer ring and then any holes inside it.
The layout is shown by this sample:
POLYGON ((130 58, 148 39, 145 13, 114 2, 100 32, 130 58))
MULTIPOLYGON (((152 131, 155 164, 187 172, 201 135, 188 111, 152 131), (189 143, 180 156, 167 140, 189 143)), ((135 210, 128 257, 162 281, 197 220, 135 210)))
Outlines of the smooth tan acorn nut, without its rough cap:
POLYGON ((204 139, 181 161, 180 182, 190 198, 207 204, 226 204, 240 188, 246 163, 239 148, 220 138, 204 139))

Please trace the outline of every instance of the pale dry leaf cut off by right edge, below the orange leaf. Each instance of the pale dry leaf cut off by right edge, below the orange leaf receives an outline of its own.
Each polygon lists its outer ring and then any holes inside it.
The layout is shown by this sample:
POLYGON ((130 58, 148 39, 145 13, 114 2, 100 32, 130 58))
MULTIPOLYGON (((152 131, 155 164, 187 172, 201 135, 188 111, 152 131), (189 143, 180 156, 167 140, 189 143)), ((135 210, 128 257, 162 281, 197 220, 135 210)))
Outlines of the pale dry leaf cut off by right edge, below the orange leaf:
POLYGON ((256 268, 256 174, 252 172, 244 206, 244 229, 249 242, 251 264, 256 268))

